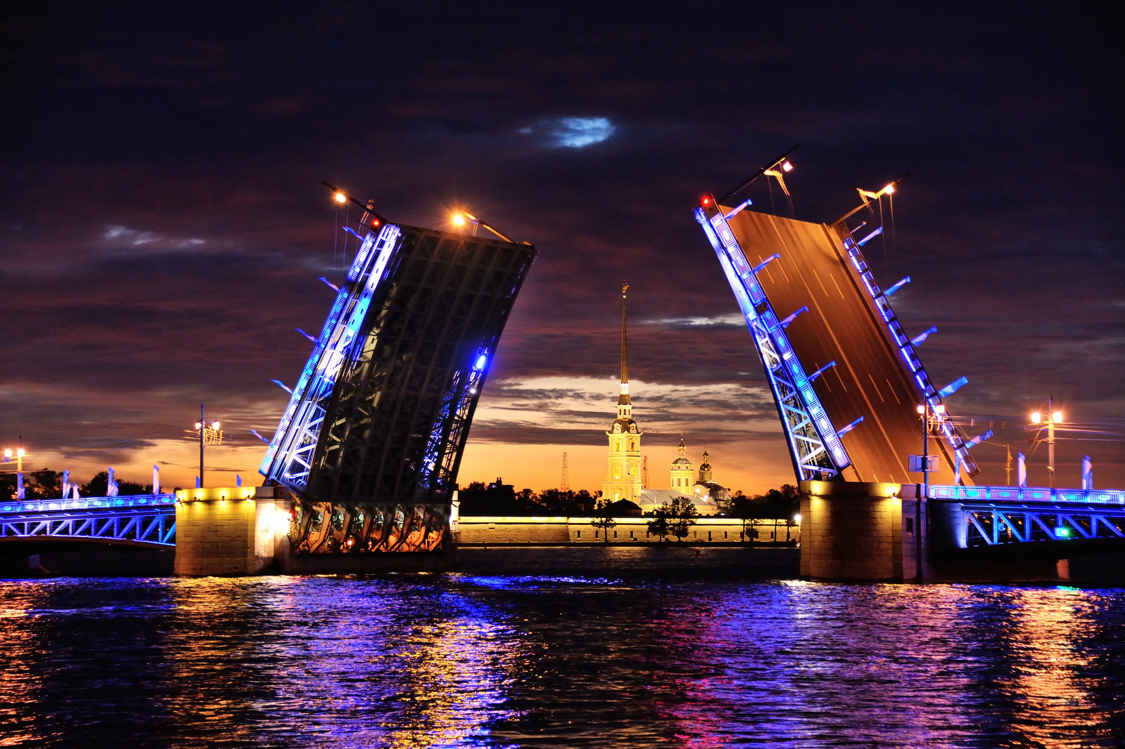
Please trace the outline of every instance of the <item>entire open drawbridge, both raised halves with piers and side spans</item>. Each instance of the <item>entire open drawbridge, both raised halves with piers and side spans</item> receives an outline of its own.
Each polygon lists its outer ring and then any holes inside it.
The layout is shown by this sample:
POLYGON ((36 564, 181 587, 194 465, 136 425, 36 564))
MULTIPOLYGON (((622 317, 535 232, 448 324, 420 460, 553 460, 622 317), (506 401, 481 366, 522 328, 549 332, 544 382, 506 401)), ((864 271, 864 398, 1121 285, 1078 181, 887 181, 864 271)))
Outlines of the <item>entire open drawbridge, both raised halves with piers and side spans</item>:
MULTIPOLYGON (((911 338, 891 306, 909 277, 883 287, 863 255, 882 232, 874 204, 896 182, 860 190, 860 206, 830 224, 732 199, 758 177, 781 182, 786 163, 705 196, 695 219, 807 494, 802 574, 1042 580, 1065 577, 1060 560, 1125 549, 1125 492, 974 485, 971 448, 990 433, 964 434, 945 402, 966 380, 930 381, 919 347, 935 329, 911 338), (921 461, 929 446, 936 458, 921 461)), ((536 250, 469 214, 465 232, 408 226, 333 190, 361 208, 345 228, 359 249, 344 283, 330 284, 336 296, 300 376, 282 384, 264 485, 0 502, 0 542, 174 545, 184 574, 448 568, 458 465, 536 250)))

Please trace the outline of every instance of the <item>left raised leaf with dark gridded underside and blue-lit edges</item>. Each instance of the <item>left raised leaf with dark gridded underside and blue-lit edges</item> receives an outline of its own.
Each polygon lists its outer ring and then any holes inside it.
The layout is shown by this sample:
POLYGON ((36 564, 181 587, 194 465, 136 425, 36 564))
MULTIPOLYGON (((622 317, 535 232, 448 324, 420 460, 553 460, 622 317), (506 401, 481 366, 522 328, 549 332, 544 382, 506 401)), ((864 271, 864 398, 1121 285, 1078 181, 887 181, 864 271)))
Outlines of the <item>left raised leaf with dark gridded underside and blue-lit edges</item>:
POLYGON ((333 524, 448 505, 534 257, 530 244, 412 226, 367 233, 260 472, 303 499, 303 517, 333 524))

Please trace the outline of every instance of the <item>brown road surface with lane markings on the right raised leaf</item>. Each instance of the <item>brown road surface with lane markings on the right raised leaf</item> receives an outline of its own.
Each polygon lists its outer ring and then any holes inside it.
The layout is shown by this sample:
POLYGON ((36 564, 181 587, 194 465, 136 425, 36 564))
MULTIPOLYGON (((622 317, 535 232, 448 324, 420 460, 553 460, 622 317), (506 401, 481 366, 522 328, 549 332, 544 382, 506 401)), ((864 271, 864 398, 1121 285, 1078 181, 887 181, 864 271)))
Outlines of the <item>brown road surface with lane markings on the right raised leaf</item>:
MULTIPOLYGON (((808 374, 836 362, 813 382, 832 425, 842 429, 864 417, 840 437, 852 458, 844 478, 920 483, 921 474, 907 469, 908 456, 921 453, 917 411, 921 390, 835 232, 824 224, 750 211, 735 215, 729 224, 750 265, 781 255, 758 273, 777 318, 809 306, 785 332, 808 374)), ((930 439, 934 453, 944 454, 937 439, 930 439)), ((938 463, 940 470, 930 473, 930 481, 952 483, 950 456, 938 463)))

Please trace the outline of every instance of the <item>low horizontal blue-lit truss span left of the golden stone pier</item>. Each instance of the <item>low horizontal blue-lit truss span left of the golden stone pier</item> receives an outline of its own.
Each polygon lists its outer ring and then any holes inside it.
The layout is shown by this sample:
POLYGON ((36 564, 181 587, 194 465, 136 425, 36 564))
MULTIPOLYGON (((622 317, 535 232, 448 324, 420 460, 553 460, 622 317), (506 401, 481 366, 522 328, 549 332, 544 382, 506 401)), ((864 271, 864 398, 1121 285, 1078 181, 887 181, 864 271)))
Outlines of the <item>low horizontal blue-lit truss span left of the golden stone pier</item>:
POLYGON ((0 506, 0 542, 45 540, 176 546, 174 497, 43 500, 0 506))

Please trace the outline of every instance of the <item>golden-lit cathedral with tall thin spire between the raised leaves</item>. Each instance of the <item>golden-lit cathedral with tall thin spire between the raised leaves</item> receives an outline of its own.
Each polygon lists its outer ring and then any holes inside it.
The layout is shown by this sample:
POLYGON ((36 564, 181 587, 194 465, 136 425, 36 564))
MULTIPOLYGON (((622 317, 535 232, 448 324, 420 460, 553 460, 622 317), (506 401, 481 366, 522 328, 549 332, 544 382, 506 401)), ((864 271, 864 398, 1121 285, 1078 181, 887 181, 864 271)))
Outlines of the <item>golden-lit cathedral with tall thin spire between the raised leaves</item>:
POLYGON ((605 435, 610 440, 610 453, 605 476, 602 479, 602 499, 605 502, 628 500, 648 514, 676 497, 691 497, 701 516, 714 515, 720 502, 730 498, 728 489, 714 482, 708 453, 703 451, 703 462, 699 474, 694 474, 692 462, 687 460, 684 440, 680 440, 680 456, 672 462, 667 489, 647 489, 642 485, 640 438, 644 434, 632 418, 632 401, 629 399, 629 367, 626 346, 626 292, 629 284, 621 287, 621 391, 618 394, 618 418, 605 435))

